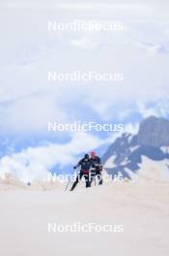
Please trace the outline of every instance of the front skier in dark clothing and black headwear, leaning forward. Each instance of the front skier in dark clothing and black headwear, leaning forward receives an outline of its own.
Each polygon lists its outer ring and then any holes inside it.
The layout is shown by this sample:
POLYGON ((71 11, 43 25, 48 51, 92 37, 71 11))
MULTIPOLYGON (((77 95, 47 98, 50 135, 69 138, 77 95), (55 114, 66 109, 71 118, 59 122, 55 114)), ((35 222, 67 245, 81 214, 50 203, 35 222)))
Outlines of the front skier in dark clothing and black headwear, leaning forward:
POLYGON ((72 184, 70 191, 73 191, 79 180, 84 176, 86 180, 86 188, 91 186, 91 182, 89 180, 89 173, 92 162, 90 161, 89 154, 85 154, 84 158, 82 158, 73 169, 80 167, 80 173, 77 175, 76 180, 72 184))

